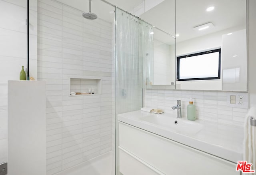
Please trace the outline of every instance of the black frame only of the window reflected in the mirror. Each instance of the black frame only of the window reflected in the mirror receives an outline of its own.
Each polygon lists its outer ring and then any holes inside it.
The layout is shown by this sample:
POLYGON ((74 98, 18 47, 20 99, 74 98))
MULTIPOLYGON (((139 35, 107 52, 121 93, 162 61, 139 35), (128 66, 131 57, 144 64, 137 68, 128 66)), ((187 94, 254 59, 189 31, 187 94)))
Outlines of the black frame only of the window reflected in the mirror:
POLYGON ((188 54, 188 55, 184 55, 184 56, 178 56, 177 57, 177 72, 176 72, 176 81, 190 81, 190 80, 218 80, 220 79, 220 61, 221 59, 221 49, 214 49, 214 50, 207 50, 205 52, 198 52, 195 54, 188 54), (219 70, 218 70, 218 77, 204 77, 204 78, 184 78, 184 79, 180 79, 180 59, 182 58, 188 58, 188 57, 192 57, 192 56, 198 56, 198 55, 204 55, 204 54, 211 54, 214 52, 219 52, 219 70))

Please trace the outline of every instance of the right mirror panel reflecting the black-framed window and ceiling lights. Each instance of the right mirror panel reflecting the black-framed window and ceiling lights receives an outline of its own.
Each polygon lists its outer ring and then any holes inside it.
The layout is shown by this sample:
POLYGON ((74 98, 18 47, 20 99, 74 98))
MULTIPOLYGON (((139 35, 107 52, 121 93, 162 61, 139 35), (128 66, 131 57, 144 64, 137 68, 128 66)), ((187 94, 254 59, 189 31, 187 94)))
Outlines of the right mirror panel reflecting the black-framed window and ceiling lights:
MULTIPOLYGON (((178 0, 176 34, 176 57, 184 56, 184 62, 191 62, 191 55, 200 52, 221 50, 218 79, 177 79, 177 89, 246 91, 246 0, 178 0)), ((201 56, 208 59, 207 55, 210 53, 201 56)), ((204 77, 214 67, 202 69, 209 62, 201 60, 187 70, 190 74, 204 70, 197 75, 204 77)), ((186 72, 178 64, 176 69, 186 72)))

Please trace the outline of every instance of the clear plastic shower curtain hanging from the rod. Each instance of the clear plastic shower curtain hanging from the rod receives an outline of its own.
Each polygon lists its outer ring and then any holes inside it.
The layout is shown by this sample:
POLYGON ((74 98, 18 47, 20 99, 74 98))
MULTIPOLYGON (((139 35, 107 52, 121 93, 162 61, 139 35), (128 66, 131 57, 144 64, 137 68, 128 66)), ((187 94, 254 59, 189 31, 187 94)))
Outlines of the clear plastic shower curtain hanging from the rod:
POLYGON ((116 114, 142 107, 153 82, 152 26, 116 8, 116 114))

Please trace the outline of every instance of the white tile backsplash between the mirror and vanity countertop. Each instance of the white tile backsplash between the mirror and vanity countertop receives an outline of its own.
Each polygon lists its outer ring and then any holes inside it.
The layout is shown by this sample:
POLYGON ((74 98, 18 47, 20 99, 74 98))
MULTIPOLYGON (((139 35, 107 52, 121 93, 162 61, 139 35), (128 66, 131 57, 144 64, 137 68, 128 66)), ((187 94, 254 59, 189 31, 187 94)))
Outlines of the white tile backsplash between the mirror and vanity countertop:
POLYGON ((182 117, 187 116, 187 105, 194 99, 196 117, 219 124, 243 127, 248 109, 228 107, 227 92, 224 91, 189 91, 189 90, 146 90, 146 106, 164 109, 166 113, 176 115, 171 106, 181 100, 182 117))

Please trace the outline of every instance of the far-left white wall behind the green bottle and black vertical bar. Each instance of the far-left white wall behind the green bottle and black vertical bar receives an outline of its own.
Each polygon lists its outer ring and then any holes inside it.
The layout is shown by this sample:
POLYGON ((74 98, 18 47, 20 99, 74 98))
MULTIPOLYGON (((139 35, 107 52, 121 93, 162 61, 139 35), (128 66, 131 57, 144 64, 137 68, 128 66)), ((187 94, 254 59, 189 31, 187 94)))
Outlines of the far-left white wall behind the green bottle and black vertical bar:
MULTIPOLYGON (((7 81, 27 65, 26 0, 0 0, 0 163, 7 161, 7 81)), ((30 75, 37 72, 37 1, 30 0, 30 75)))

